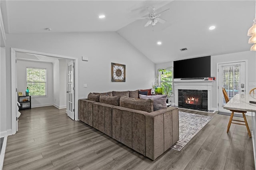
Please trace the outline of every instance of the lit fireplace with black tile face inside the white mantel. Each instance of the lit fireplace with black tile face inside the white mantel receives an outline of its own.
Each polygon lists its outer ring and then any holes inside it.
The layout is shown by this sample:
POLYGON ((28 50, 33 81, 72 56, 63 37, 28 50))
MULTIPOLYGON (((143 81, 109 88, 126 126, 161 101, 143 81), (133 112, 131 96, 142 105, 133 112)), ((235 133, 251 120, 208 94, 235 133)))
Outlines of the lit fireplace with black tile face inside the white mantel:
POLYGON ((208 91, 178 89, 178 107, 208 111, 208 91))

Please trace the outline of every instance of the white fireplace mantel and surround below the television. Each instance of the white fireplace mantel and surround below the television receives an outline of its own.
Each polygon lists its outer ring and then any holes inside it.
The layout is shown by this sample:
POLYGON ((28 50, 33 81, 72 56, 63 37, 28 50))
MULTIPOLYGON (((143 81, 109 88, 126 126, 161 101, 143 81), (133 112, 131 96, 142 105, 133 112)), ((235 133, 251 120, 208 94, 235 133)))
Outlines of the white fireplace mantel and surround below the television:
POLYGON ((208 110, 212 111, 212 80, 174 80, 175 106, 178 106, 178 90, 207 90, 208 110))

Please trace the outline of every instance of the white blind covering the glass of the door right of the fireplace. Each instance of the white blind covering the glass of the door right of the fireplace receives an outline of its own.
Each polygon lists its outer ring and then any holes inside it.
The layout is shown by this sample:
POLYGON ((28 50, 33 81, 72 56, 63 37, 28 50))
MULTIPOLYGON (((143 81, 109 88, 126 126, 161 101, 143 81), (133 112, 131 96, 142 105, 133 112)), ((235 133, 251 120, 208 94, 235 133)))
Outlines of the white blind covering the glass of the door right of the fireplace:
MULTIPOLYGON (((222 87, 226 90, 228 98, 240 93, 240 65, 230 65, 222 67, 222 87)), ((222 105, 226 101, 222 94, 222 105)))

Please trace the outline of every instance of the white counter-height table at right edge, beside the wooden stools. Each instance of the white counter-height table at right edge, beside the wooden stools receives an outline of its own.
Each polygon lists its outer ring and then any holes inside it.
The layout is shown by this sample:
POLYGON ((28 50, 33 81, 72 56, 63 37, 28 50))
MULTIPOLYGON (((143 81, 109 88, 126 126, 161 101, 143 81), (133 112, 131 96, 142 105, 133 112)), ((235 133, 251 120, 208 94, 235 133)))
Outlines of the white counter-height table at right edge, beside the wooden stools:
POLYGON ((254 165, 256 166, 256 104, 250 103, 250 101, 256 102, 256 95, 243 95, 237 94, 235 95, 226 105, 224 105, 224 109, 231 109, 237 111, 249 111, 252 112, 252 145, 253 145, 253 154, 254 154, 254 165))

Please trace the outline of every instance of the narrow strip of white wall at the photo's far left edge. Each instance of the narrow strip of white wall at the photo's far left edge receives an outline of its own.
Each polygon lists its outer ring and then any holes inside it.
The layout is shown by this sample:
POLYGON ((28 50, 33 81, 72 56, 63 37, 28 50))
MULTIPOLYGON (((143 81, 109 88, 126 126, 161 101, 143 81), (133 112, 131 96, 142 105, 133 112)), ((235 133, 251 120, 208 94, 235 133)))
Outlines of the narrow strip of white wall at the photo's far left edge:
MULTIPOLYGON (((0 137, 7 136, 6 122, 6 57, 5 47, 0 48, 0 137)), ((10 128, 9 128, 10 129, 10 128)))

